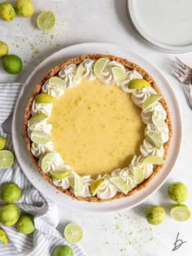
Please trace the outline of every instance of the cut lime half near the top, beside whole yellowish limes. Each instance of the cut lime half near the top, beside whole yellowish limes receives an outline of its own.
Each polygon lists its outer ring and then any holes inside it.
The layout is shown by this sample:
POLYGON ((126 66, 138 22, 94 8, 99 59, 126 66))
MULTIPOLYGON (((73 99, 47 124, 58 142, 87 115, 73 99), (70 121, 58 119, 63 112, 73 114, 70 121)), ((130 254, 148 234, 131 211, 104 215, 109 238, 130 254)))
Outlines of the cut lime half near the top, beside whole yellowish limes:
POLYGON ((37 17, 37 26, 41 30, 50 30, 55 27, 56 19, 52 11, 43 11, 37 17))

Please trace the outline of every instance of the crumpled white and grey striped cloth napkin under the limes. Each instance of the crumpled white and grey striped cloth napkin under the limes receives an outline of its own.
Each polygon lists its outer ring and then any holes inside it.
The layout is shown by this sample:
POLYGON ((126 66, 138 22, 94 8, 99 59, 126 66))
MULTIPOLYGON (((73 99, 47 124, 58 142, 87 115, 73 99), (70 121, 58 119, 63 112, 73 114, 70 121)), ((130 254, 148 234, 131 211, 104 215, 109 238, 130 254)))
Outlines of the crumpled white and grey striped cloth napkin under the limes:
MULTIPOLYGON (((4 126, 6 120, 8 120, 7 118, 13 112, 21 86, 20 83, 0 83, 0 135, 7 138, 7 149, 11 152, 13 152, 11 135, 5 133, 7 129, 5 130, 4 126)), ((0 170, 0 186, 5 182, 17 183, 22 189, 23 195, 16 202, 16 205, 21 212, 33 214, 36 230, 33 234, 26 236, 17 232, 15 227, 4 227, 0 223, 0 227, 7 232, 10 239, 9 245, 0 243, 1 256, 49 256, 52 255, 57 245, 69 245, 72 247, 75 256, 85 256, 78 245, 69 244, 55 229, 59 223, 57 205, 33 188, 16 160, 11 168, 0 170)), ((0 201, 0 205, 2 205, 2 201, 0 201)))

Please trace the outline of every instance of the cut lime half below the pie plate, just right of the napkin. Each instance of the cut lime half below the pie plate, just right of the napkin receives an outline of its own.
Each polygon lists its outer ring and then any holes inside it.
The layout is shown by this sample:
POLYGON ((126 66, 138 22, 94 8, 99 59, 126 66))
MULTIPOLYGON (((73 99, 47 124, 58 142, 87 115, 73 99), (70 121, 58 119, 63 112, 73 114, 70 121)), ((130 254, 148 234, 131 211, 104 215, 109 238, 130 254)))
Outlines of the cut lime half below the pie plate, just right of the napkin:
POLYGON ((83 238, 83 230, 76 223, 69 223, 64 229, 65 239, 72 244, 76 244, 83 238))

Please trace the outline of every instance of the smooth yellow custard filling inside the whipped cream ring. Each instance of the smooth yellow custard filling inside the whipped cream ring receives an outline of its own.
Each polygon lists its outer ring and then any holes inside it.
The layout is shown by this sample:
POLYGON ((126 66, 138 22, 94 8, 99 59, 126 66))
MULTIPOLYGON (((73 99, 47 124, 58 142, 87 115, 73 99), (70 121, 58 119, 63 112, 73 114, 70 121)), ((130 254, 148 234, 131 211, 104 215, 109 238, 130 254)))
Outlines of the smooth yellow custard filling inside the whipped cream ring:
POLYGON ((129 166, 144 139, 140 112, 118 86, 83 80, 53 104, 49 123, 55 150, 81 175, 129 166))

